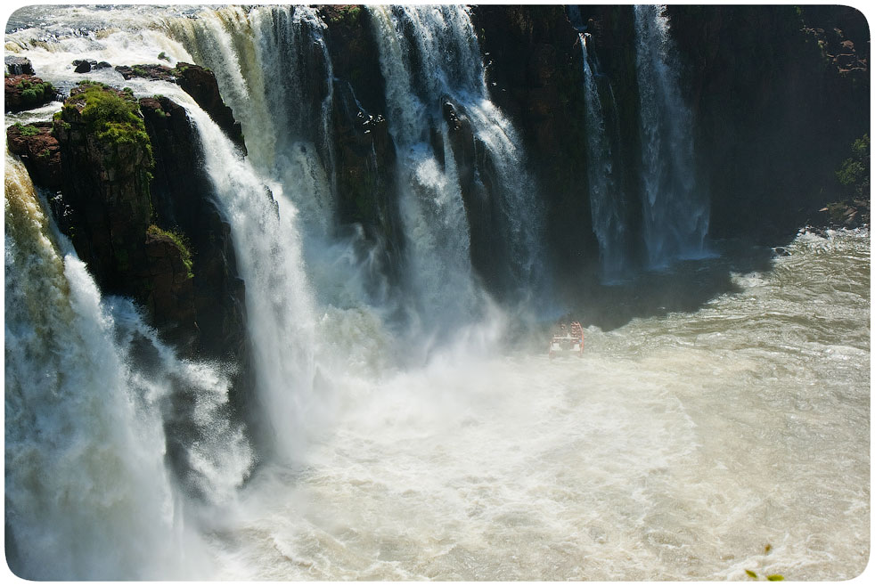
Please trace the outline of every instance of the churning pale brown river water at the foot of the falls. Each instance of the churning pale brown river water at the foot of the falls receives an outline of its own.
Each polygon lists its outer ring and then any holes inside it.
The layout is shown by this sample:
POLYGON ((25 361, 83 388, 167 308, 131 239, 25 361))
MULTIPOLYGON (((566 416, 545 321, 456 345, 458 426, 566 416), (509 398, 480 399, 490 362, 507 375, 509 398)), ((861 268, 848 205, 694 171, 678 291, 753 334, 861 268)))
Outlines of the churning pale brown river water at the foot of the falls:
POLYGON ((869 247, 800 235, 698 311, 590 328, 583 358, 450 355, 349 385, 306 464, 243 491, 218 575, 862 573, 869 247))

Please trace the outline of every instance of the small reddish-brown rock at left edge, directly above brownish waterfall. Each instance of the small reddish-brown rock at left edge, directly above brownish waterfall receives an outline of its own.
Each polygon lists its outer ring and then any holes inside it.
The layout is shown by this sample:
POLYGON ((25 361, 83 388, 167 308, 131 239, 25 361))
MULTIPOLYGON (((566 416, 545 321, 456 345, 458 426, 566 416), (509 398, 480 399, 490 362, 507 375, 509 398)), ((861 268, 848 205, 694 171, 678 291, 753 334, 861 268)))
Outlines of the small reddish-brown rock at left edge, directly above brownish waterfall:
POLYGON ((51 122, 27 126, 13 124, 6 130, 9 151, 19 155, 37 185, 61 189, 61 148, 52 134, 51 122))

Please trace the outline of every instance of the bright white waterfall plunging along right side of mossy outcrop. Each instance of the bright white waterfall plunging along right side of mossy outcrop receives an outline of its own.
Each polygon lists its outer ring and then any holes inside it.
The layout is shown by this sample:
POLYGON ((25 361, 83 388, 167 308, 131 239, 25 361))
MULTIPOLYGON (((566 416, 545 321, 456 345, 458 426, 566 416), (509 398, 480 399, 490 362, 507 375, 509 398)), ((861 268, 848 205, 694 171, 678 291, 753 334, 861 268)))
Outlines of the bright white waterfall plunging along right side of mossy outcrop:
MULTIPOLYGON (((181 91, 200 135, 214 199, 231 226, 234 252, 246 282, 247 330, 257 401, 274 455, 295 460, 303 429, 314 417, 319 390, 316 307, 303 259, 298 210, 268 189, 211 118, 181 91)), ((274 186, 274 190, 281 187, 274 186)))

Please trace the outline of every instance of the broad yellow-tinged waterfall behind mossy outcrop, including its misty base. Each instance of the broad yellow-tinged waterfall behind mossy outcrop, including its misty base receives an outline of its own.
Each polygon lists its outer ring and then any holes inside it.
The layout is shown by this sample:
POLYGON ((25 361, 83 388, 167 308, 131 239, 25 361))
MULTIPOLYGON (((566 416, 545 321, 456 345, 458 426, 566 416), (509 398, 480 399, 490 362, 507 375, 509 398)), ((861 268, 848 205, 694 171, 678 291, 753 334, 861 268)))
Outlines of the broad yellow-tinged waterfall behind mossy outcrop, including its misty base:
MULTIPOLYGON (((249 164, 263 177, 258 181, 286 208, 282 223, 289 215, 297 218, 308 295, 331 308, 323 327, 373 332, 377 313, 392 313, 397 300, 389 298, 388 277, 375 260, 380 250, 363 244, 359 232, 341 238, 336 231, 334 79, 323 21, 315 8, 302 5, 231 6, 198 15, 167 20, 168 34, 191 56, 168 53, 216 72, 225 102, 241 120, 249 164)), ((380 362, 366 352, 360 358, 380 362)))

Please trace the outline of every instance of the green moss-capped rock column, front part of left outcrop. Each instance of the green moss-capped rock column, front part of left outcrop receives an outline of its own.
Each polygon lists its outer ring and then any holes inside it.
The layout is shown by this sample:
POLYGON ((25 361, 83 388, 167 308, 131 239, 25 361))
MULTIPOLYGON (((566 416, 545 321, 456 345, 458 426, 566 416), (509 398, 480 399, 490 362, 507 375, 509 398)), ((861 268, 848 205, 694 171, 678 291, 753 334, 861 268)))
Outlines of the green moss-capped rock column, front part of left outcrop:
POLYGON ((151 143, 133 96, 80 85, 54 134, 70 210, 58 218, 61 230, 103 291, 134 298, 166 338, 190 348, 197 326, 192 279, 180 269, 186 250, 151 230, 151 143), (107 122, 115 126, 107 130, 107 122))

